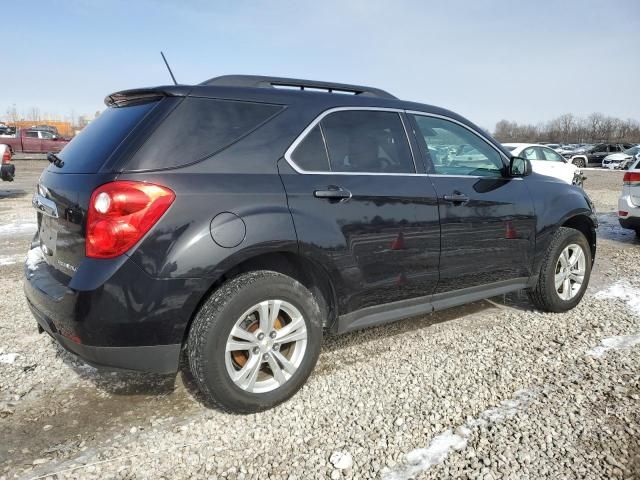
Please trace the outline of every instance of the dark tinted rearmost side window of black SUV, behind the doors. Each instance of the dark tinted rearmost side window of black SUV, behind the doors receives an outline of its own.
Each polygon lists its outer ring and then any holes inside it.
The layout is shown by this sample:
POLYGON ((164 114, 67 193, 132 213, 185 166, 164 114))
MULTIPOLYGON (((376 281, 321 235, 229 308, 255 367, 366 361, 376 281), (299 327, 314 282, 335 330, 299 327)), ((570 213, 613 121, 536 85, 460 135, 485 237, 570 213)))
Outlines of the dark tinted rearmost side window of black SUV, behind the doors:
POLYGON ((187 97, 126 169, 172 168, 197 162, 252 132, 281 109, 280 105, 187 97))

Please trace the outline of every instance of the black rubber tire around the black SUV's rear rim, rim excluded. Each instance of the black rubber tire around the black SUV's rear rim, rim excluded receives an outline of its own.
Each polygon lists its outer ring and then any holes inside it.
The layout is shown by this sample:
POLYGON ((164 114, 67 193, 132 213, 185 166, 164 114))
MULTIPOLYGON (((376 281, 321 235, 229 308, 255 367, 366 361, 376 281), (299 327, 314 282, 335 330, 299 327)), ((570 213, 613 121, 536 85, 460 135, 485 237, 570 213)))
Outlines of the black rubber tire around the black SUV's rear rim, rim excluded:
POLYGON ((322 344, 322 314, 313 294, 286 275, 260 270, 233 278, 202 305, 189 331, 187 358, 206 403, 234 413, 253 413, 291 398, 311 374, 322 344), (282 386, 252 393, 237 386, 225 366, 225 346, 231 329, 247 309, 264 300, 280 299, 302 313, 307 345, 298 369, 282 386))

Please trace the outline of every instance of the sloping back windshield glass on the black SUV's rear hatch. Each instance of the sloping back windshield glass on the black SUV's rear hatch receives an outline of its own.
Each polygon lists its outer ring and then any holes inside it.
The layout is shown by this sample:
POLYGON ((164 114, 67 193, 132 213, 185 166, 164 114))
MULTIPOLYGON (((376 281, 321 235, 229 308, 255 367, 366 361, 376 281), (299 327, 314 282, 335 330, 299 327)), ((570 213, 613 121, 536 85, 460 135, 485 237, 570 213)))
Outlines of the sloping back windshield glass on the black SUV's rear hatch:
MULTIPOLYGON (((96 173, 126 136, 158 104, 110 107, 87 125, 58 156, 65 173, 96 173)), ((58 170, 56 168, 56 170, 58 170)))

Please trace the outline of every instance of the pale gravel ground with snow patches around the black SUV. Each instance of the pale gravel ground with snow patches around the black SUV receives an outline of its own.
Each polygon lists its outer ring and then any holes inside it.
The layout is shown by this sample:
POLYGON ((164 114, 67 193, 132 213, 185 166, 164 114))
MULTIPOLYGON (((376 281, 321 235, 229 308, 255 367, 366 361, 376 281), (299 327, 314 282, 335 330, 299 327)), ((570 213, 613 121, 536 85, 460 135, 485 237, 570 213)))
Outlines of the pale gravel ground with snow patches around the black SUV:
POLYGON ((0 479, 640 478, 640 242, 621 172, 589 171, 602 222, 583 302, 520 294, 326 339, 268 412, 201 406, 188 374, 99 372, 38 335, 21 286, 41 161, 0 185, 0 479))

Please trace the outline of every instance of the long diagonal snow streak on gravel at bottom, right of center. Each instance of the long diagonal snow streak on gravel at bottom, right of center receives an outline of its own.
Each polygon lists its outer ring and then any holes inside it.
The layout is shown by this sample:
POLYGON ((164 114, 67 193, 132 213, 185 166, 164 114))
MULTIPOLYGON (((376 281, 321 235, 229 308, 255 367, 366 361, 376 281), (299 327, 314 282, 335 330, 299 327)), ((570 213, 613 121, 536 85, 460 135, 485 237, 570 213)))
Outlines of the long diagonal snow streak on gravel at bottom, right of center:
POLYGON ((536 398, 537 391, 519 390, 514 398, 503 400, 500 405, 485 410, 478 418, 467 420, 459 426, 455 432, 451 429, 440 435, 436 435, 427 448, 412 450, 406 455, 407 465, 394 470, 386 470, 382 474, 384 480, 409 480, 416 478, 420 473, 428 470, 433 465, 438 465, 447 458, 451 451, 460 451, 467 446, 472 429, 482 425, 500 422, 513 417, 519 411, 526 409, 536 398))

